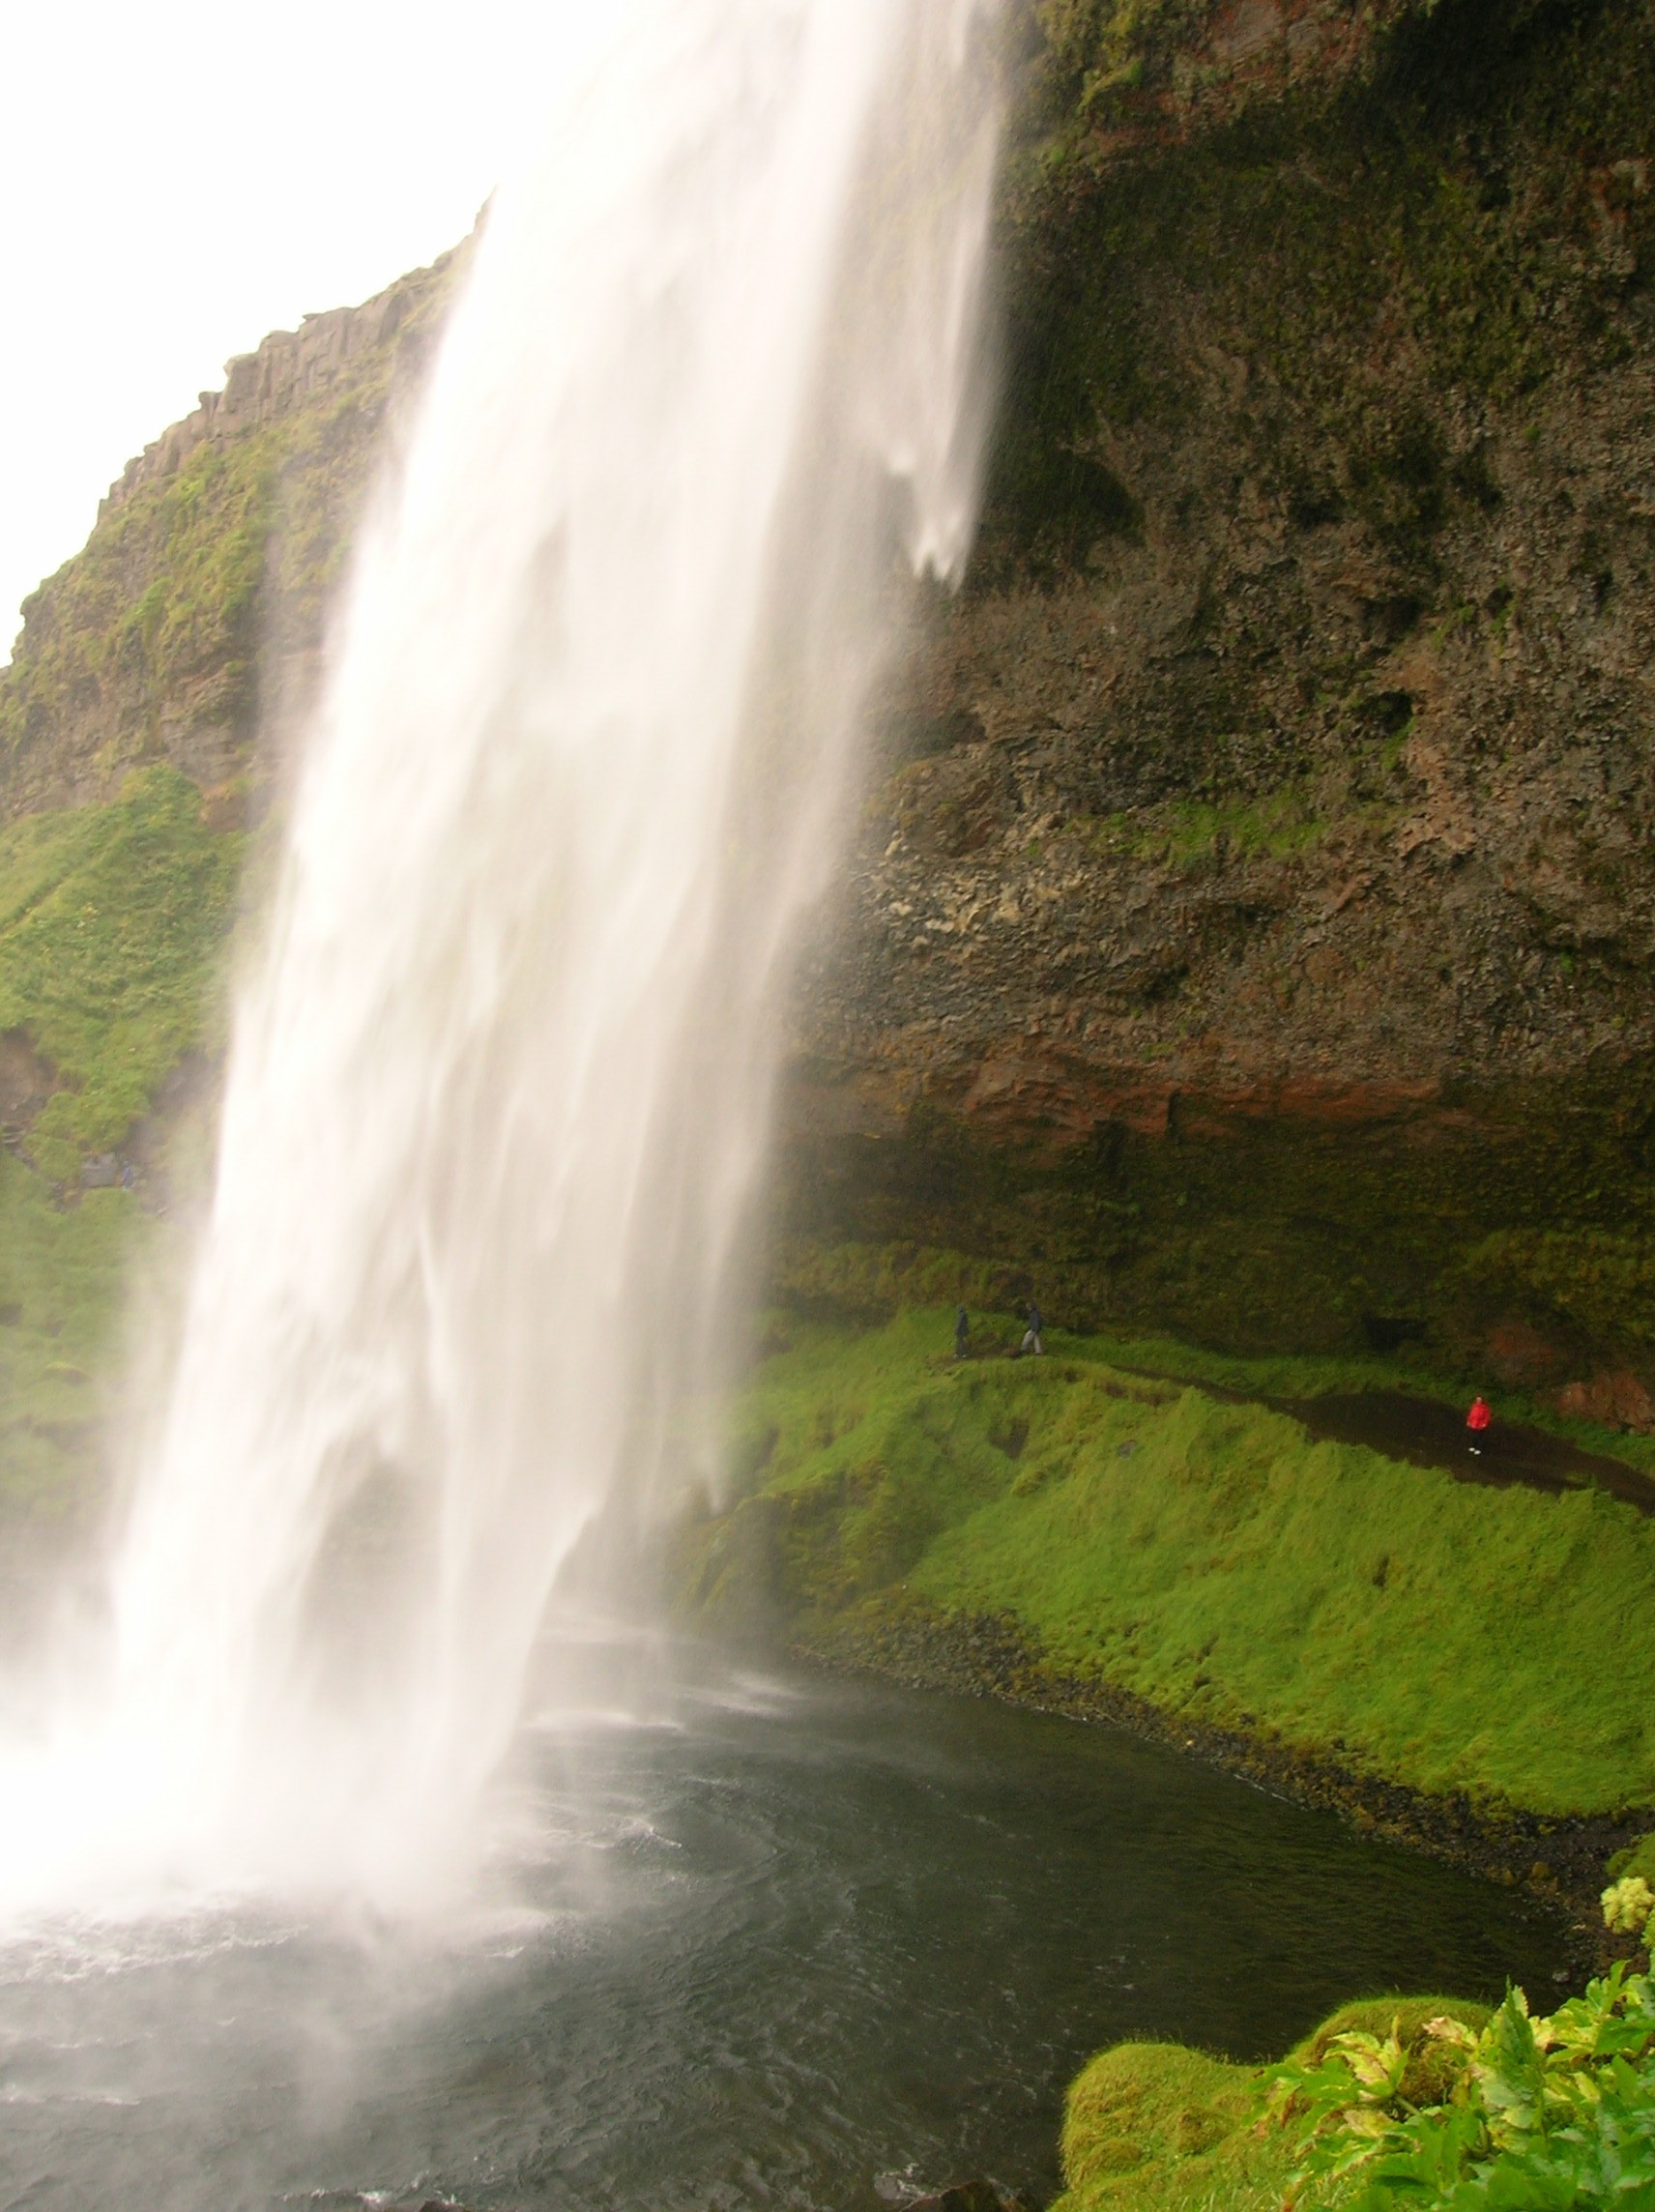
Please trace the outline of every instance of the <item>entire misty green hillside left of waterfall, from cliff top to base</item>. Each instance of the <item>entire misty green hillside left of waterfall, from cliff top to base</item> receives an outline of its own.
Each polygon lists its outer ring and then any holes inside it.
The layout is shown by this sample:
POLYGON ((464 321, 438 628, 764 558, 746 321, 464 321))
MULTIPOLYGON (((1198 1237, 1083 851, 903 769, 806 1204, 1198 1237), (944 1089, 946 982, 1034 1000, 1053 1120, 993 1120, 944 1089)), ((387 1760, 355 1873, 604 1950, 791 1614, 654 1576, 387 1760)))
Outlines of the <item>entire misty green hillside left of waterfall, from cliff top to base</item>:
POLYGON ((0 670, 0 1066, 35 1091, 0 1155, 0 1517, 97 1498, 133 1263, 164 1232, 135 1192, 82 1190, 82 1161, 133 1144, 150 1201, 192 1170, 201 1133, 166 1084, 221 1044, 248 847, 212 823, 268 772, 261 664, 314 644, 389 394, 445 299, 445 265, 405 279, 378 336, 285 411, 119 491, 0 670), (210 810, 164 754, 215 783, 210 810), (18 812, 64 794, 108 803, 18 812))

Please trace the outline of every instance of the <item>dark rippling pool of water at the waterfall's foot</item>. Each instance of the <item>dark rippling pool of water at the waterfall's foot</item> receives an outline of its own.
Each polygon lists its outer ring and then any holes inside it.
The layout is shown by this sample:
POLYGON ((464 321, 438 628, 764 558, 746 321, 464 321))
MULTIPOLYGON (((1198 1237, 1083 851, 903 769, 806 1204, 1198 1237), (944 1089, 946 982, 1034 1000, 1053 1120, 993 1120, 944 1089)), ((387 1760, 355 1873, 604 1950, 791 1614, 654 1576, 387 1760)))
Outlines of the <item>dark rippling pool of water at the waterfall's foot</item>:
POLYGON ((1549 1995, 1564 1955, 1500 1889, 1100 1728, 659 1648, 549 1670, 518 1840, 440 1931, 9 1940, 0 2208, 1049 2192, 1100 2044, 1252 2057, 1361 1991, 1549 1995))

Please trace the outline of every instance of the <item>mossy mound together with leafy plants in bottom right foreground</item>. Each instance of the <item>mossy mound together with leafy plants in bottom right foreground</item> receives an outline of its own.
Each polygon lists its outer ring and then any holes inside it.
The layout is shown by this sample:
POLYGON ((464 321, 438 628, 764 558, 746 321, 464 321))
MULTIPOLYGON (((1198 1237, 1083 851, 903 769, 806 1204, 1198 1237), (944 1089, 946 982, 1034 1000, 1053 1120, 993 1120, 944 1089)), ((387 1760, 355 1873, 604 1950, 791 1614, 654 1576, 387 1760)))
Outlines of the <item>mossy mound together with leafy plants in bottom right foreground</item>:
MULTIPOLYGON (((1655 1911, 1604 1891, 1611 1931, 1655 1911)), ((1345 2004, 1288 2057, 1182 2044, 1102 2051, 1069 2088, 1053 2212, 1651 2212, 1655 1984, 1615 1964, 1549 2017, 1520 1989, 1345 2004)))

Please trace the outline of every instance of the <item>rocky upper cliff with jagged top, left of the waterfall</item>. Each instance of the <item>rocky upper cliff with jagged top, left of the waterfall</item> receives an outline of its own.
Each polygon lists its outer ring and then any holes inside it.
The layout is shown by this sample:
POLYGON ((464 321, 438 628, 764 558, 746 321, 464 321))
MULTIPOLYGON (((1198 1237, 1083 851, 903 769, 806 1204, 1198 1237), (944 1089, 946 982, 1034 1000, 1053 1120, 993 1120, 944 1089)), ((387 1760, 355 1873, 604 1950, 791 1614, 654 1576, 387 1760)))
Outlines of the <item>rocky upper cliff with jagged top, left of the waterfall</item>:
POLYGON ((323 606, 454 261, 274 332, 128 462, 0 670, 4 812, 100 803, 170 761, 239 818, 310 697, 323 606))

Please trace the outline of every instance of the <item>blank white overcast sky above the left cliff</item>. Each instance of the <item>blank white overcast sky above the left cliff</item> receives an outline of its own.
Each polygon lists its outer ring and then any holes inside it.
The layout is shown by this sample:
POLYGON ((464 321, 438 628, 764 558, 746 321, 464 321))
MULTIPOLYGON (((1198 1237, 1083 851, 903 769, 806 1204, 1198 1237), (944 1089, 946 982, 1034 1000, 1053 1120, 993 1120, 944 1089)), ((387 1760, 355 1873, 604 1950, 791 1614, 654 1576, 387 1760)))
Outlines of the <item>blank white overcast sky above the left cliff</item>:
POLYGON ((0 661, 230 354, 471 228, 606 0, 0 0, 0 661))

